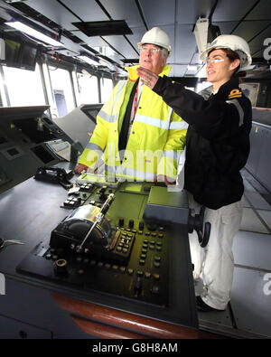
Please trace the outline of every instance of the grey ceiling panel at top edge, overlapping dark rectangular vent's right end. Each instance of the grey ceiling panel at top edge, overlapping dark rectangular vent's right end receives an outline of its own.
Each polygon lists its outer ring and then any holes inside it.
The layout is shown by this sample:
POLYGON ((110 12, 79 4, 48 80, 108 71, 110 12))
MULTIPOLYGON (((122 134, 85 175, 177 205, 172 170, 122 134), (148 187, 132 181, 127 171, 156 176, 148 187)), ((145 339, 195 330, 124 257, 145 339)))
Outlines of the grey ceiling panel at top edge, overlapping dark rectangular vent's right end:
POLYGON ((100 0, 113 20, 125 20, 128 26, 144 25, 135 0, 100 0))

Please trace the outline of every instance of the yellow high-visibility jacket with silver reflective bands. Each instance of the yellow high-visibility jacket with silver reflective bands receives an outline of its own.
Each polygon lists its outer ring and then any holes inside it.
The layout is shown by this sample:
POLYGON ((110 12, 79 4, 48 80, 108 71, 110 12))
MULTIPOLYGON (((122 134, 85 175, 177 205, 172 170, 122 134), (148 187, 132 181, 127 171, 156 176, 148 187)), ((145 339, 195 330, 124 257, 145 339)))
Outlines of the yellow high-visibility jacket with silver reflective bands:
MULTIPOLYGON (((188 125, 146 86, 143 86, 123 161, 120 161, 119 122, 122 123, 132 85, 138 79, 136 67, 127 69, 128 80, 117 83, 99 111, 97 126, 79 164, 94 170, 102 160, 107 174, 120 175, 127 180, 154 181, 159 174, 175 179, 188 125)), ((164 66, 160 76, 167 75, 170 69, 164 66)))

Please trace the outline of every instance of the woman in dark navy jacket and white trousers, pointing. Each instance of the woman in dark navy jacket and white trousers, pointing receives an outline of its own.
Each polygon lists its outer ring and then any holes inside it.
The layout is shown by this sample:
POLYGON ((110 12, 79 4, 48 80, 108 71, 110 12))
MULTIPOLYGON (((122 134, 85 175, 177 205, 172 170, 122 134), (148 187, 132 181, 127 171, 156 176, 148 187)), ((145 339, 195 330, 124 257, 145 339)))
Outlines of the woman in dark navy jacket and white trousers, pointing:
POLYGON ((207 80, 212 83, 208 99, 149 70, 137 72, 189 124, 184 189, 191 208, 206 207, 204 221, 211 224, 206 248, 190 240, 193 273, 203 281, 197 308, 210 311, 225 310, 230 300, 232 241, 241 222, 244 193, 240 170, 248 159, 252 121, 251 103, 238 87, 238 71, 251 64, 251 56, 244 39, 224 34, 202 52, 201 60, 207 62, 207 80))

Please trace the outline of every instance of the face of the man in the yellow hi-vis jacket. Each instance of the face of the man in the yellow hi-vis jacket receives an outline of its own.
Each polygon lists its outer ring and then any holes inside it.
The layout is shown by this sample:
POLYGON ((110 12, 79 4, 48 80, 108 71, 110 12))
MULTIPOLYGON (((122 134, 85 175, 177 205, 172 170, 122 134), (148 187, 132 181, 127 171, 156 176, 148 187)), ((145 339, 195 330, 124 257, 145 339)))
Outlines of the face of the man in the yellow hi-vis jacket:
POLYGON ((163 50, 155 44, 145 43, 140 50, 139 65, 146 70, 152 70, 159 74, 162 72, 166 63, 166 57, 163 57, 163 50))

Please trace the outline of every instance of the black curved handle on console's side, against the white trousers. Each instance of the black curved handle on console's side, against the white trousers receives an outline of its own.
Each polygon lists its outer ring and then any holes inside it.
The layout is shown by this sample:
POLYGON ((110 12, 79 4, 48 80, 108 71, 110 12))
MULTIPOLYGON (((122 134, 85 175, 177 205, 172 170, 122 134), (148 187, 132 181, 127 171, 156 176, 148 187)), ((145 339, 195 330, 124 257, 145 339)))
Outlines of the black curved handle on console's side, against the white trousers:
POLYGON ((199 243, 202 248, 206 247, 210 239, 210 222, 205 222, 203 231, 205 207, 201 207, 200 214, 196 214, 194 210, 190 210, 188 219, 188 232, 192 233, 196 230, 198 234, 199 243))

